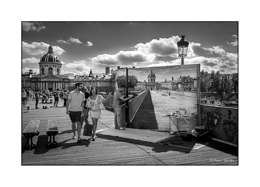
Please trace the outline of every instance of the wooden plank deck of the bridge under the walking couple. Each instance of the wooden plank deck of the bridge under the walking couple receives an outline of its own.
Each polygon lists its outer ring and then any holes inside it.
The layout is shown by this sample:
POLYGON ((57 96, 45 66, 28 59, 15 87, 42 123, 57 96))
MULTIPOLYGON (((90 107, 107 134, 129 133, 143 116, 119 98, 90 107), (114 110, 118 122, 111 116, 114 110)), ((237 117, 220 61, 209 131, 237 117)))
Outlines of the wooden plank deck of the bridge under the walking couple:
MULTIPOLYGON (((38 104, 40 109, 35 109, 35 101, 31 100, 29 105, 30 113, 26 108, 22 109, 21 135, 30 120, 41 121, 38 128, 40 134, 33 139, 36 144, 34 150, 23 149, 27 140, 22 135, 22 165, 238 165, 238 148, 216 140, 198 150, 98 133, 96 141, 90 141, 90 136, 81 136, 83 140, 78 143, 72 140, 71 121, 63 101, 59 101, 60 107, 47 104, 50 109, 42 109, 42 104, 38 104), (55 136, 58 146, 54 148, 46 146, 49 119, 56 119, 59 127, 59 133, 55 136)), ((97 130, 114 127, 113 110, 102 111, 101 117, 97 130)), ((149 138, 155 134, 154 131, 140 130, 140 133, 144 132, 149 138)), ((165 138, 164 132, 161 133, 161 139, 165 138)))

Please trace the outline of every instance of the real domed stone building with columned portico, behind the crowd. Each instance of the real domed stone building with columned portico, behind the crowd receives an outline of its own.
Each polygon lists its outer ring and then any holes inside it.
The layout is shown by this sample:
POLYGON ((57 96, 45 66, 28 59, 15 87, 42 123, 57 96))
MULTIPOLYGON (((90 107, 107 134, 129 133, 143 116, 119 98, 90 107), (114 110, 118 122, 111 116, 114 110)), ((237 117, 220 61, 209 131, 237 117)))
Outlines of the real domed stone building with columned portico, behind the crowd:
POLYGON ((73 87, 74 85, 69 84, 69 77, 61 75, 61 67, 62 63, 60 57, 54 54, 53 47, 50 45, 48 52, 40 59, 40 73, 31 74, 30 77, 24 76, 22 77, 22 81, 23 79, 30 78, 30 80, 28 80, 29 83, 26 86, 33 90, 35 88, 40 88, 41 90, 48 89, 53 91, 57 88, 67 89, 68 87, 73 87))

